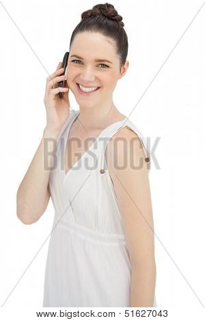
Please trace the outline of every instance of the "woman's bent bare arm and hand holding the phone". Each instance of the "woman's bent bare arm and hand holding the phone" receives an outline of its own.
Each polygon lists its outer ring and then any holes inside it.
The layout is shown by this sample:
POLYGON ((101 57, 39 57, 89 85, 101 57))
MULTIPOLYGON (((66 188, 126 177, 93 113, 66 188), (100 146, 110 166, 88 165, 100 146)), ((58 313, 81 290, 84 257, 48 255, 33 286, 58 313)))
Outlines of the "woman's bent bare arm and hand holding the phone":
POLYGON ((44 104, 46 107, 46 127, 36 154, 27 169, 16 195, 17 217, 25 224, 38 221, 49 203, 49 175, 55 157, 57 137, 70 115, 68 83, 58 87, 59 81, 66 80, 64 68, 59 62, 57 69, 46 79, 44 104), (61 76, 60 76, 61 75, 61 76), (63 98, 59 98, 59 92, 63 98))

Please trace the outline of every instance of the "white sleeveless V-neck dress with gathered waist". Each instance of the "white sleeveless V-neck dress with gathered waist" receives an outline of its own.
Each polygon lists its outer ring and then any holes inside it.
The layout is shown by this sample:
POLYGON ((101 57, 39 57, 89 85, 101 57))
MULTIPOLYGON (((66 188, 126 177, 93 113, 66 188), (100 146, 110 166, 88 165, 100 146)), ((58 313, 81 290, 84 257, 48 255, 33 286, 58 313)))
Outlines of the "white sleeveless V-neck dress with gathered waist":
MULTIPOLYGON (((107 142, 124 126, 146 141, 131 120, 111 124, 65 172, 72 110, 55 147, 49 191, 55 208, 44 274, 43 307, 130 307, 131 263, 120 208, 105 158, 107 142)), ((154 307, 156 307, 154 296, 154 307)))

